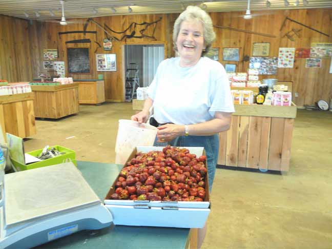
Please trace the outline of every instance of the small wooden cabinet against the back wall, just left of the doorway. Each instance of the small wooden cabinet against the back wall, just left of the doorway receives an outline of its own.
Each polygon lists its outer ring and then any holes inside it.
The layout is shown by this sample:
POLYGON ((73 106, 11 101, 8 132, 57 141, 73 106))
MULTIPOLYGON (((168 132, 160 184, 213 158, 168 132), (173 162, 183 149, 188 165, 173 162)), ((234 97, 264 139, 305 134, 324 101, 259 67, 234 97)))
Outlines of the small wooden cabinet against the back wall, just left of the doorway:
POLYGON ((80 104, 99 104, 105 102, 105 87, 103 80, 77 81, 76 83, 78 83, 78 102, 80 104))

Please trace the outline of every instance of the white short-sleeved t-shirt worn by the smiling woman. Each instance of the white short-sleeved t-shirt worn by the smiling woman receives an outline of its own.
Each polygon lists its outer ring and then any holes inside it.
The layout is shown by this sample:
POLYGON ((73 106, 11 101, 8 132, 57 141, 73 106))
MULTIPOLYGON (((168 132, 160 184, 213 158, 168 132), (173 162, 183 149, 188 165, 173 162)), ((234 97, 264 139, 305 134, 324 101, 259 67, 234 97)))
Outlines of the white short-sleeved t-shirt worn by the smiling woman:
POLYGON ((223 66, 201 57, 193 67, 180 67, 180 58, 163 60, 148 89, 153 116, 159 123, 194 124, 218 112, 234 112, 229 79, 223 66))

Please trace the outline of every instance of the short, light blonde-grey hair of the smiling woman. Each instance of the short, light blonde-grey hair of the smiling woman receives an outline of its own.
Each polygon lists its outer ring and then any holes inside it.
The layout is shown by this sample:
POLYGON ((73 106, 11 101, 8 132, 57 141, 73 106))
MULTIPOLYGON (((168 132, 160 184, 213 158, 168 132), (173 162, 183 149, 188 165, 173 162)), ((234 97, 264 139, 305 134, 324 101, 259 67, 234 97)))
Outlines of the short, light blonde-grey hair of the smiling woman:
POLYGON ((213 41, 216 38, 216 33, 213 30, 212 19, 208 13, 197 6, 188 6, 179 17, 175 20, 173 28, 173 46, 177 52, 176 40, 180 32, 182 22, 186 20, 197 20, 203 24, 203 37, 205 49, 202 51, 202 56, 209 52, 213 41))

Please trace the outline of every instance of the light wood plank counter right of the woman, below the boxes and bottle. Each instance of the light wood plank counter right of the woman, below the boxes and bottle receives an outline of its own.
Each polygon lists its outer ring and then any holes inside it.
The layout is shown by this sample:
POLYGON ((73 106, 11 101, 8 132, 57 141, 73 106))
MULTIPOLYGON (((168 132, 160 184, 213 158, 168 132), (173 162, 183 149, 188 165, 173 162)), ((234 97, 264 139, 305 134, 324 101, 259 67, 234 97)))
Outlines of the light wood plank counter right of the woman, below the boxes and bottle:
POLYGON ((219 133, 218 164, 288 171, 296 110, 235 105, 230 130, 219 133))

